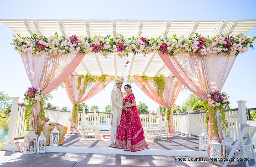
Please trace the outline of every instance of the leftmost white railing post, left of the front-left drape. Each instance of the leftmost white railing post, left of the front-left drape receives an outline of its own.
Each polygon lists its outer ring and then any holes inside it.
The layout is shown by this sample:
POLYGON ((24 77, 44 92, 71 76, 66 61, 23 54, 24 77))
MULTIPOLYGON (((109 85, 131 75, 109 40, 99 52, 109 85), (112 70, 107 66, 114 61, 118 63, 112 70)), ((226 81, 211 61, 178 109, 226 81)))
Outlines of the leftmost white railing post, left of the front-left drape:
POLYGON ((18 116, 18 104, 19 104, 19 97, 12 97, 12 109, 11 109, 11 116, 10 116, 10 123, 9 123, 9 131, 8 131, 8 138, 6 144, 14 144, 14 136, 16 130, 16 123, 17 123, 17 116, 18 116))

